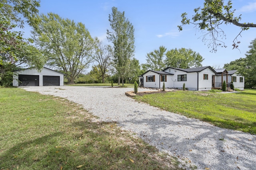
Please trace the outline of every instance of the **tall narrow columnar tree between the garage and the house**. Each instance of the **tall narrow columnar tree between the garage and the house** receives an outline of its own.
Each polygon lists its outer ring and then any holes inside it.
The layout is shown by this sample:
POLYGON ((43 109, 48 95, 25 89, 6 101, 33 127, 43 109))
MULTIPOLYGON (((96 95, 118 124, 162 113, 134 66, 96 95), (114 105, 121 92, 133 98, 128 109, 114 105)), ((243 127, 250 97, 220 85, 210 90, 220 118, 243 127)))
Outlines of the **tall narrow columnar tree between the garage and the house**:
POLYGON ((114 44, 115 68, 124 86, 124 78, 129 73, 130 58, 134 55, 134 28, 125 18, 124 12, 118 11, 116 7, 112 8, 109 21, 113 31, 107 29, 107 39, 114 44))

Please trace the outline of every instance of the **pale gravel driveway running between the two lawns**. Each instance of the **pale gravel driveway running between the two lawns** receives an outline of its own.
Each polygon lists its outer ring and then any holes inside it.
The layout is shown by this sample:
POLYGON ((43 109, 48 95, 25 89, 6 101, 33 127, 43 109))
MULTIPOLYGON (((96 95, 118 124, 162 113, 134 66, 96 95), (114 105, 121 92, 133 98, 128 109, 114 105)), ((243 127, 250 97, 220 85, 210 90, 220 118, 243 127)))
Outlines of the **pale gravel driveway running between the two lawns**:
MULTIPOLYGON (((37 86, 24 89, 82 104, 102 121, 116 121, 150 145, 177 157, 185 168, 195 165, 199 170, 256 170, 256 135, 222 129, 138 103, 124 94, 133 88, 37 86)), ((145 90, 148 89, 138 89, 145 90)))

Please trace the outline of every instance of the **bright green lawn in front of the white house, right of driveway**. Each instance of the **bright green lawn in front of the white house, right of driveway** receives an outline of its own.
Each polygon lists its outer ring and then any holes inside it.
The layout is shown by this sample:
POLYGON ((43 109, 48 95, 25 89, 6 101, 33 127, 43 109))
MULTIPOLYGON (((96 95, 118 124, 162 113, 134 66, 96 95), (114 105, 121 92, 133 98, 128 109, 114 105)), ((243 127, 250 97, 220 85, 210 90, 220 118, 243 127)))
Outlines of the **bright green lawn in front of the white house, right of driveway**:
POLYGON ((256 90, 247 89, 240 93, 180 90, 146 94, 135 99, 218 127, 256 134, 256 90))

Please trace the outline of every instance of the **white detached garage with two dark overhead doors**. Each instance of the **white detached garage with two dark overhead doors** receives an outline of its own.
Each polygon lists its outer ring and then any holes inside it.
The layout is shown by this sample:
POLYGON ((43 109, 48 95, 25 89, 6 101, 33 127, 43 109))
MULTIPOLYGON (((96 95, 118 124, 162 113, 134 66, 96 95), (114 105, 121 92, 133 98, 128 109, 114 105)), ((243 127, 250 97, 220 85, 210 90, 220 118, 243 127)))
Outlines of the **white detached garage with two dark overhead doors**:
POLYGON ((13 86, 63 86, 64 74, 44 67, 41 72, 27 68, 13 74, 13 86))

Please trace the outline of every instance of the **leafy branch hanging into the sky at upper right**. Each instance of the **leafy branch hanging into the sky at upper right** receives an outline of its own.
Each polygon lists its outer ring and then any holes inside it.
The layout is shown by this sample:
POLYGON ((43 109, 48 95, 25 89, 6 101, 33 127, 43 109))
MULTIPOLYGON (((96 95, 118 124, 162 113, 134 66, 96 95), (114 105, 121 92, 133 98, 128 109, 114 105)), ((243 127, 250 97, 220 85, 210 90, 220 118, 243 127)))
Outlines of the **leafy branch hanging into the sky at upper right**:
POLYGON ((249 27, 256 27, 254 23, 240 23, 242 19, 241 15, 238 17, 234 16, 235 10, 232 9, 232 2, 229 0, 227 4, 224 4, 224 0, 205 0, 203 7, 198 7, 194 9, 195 15, 189 19, 187 13, 183 13, 182 25, 179 25, 178 28, 181 31, 182 26, 187 24, 194 24, 196 28, 202 30, 204 35, 202 40, 205 43, 208 43, 208 47, 212 52, 217 51, 217 47, 226 47, 225 43, 222 41, 226 37, 224 30, 221 28, 222 24, 234 24, 238 27, 241 27, 240 33, 233 40, 233 49, 238 48, 237 37, 244 30, 248 30, 249 27), (205 33, 206 32, 206 33, 205 33))

